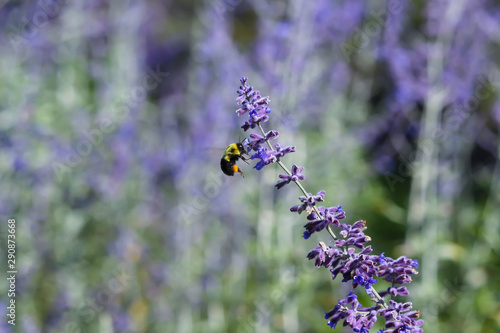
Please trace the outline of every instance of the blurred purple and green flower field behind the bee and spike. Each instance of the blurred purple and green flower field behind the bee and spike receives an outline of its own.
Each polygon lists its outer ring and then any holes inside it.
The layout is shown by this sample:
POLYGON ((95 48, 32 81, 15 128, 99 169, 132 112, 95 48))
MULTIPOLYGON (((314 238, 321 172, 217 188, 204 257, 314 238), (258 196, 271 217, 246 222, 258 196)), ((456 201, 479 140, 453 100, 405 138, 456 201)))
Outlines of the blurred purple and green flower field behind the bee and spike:
MULTIPOLYGON (((426 332, 499 332, 498 1, 0 1, 17 332, 330 332, 300 192, 222 151, 239 78, 304 186, 419 259, 426 332)), ((0 279, 1 332, 6 279, 0 279)), ((336 329, 343 332, 343 328, 336 329)), ((345 330, 348 332, 348 330, 345 330)))

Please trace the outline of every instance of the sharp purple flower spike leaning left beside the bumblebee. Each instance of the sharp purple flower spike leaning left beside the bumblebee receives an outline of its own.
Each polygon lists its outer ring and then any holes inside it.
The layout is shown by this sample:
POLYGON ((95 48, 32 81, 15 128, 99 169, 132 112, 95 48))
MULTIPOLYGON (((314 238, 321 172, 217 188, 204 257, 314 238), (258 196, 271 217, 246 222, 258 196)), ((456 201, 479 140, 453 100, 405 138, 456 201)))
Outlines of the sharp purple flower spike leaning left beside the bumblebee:
POLYGON ((342 282, 350 283, 352 290, 347 296, 337 302, 337 305, 325 313, 327 325, 335 328, 339 322, 343 326, 349 326, 354 332, 369 333, 378 318, 385 321, 382 333, 421 333, 423 329, 423 320, 419 319, 420 312, 412 310, 410 302, 398 303, 392 299, 395 296, 407 296, 408 289, 403 284, 412 282, 411 275, 418 272, 418 261, 405 256, 398 259, 386 257, 384 253, 380 255, 371 254, 371 246, 366 243, 371 238, 365 235, 367 229, 366 221, 360 220, 352 224, 340 223, 340 220, 346 218, 346 214, 341 205, 332 207, 323 207, 317 205, 318 202, 324 202, 326 192, 319 191, 316 195, 307 192, 301 180, 305 179, 303 167, 293 165, 291 171, 280 161, 280 158, 295 151, 294 146, 283 148, 277 143, 274 148, 270 143, 271 139, 278 137, 278 131, 271 130, 265 132, 262 123, 269 120, 271 110, 267 107, 269 97, 262 97, 260 92, 254 90, 247 84, 248 78, 241 78, 241 86, 238 89, 237 103, 241 108, 236 111, 238 115, 248 113, 249 119, 245 121, 242 128, 247 131, 258 127, 261 134, 252 133, 252 141, 245 143, 256 153, 251 159, 260 161, 254 166, 261 170, 264 166, 277 163, 285 173, 280 174, 280 180, 275 185, 278 189, 294 182, 303 193, 299 197, 300 204, 293 206, 290 211, 302 213, 306 211, 307 223, 304 225, 304 239, 308 239, 314 233, 327 230, 333 238, 332 245, 326 245, 319 242, 316 248, 309 251, 307 258, 315 260, 316 267, 325 267, 329 270, 332 279, 341 274, 342 282), (267 148, 263 147, 267 144, 267 148), (332 228, 338 228, 340 237, 333 232, 332 228), (374 285, 381 282, 388 282, 390 286, 377 292, 374 285), (359 289, 364 290, 373 304, 368 307, 358 300, 354 293, 359 289), (386 303, 385 297, 390 297, 389 303, 386 303))

